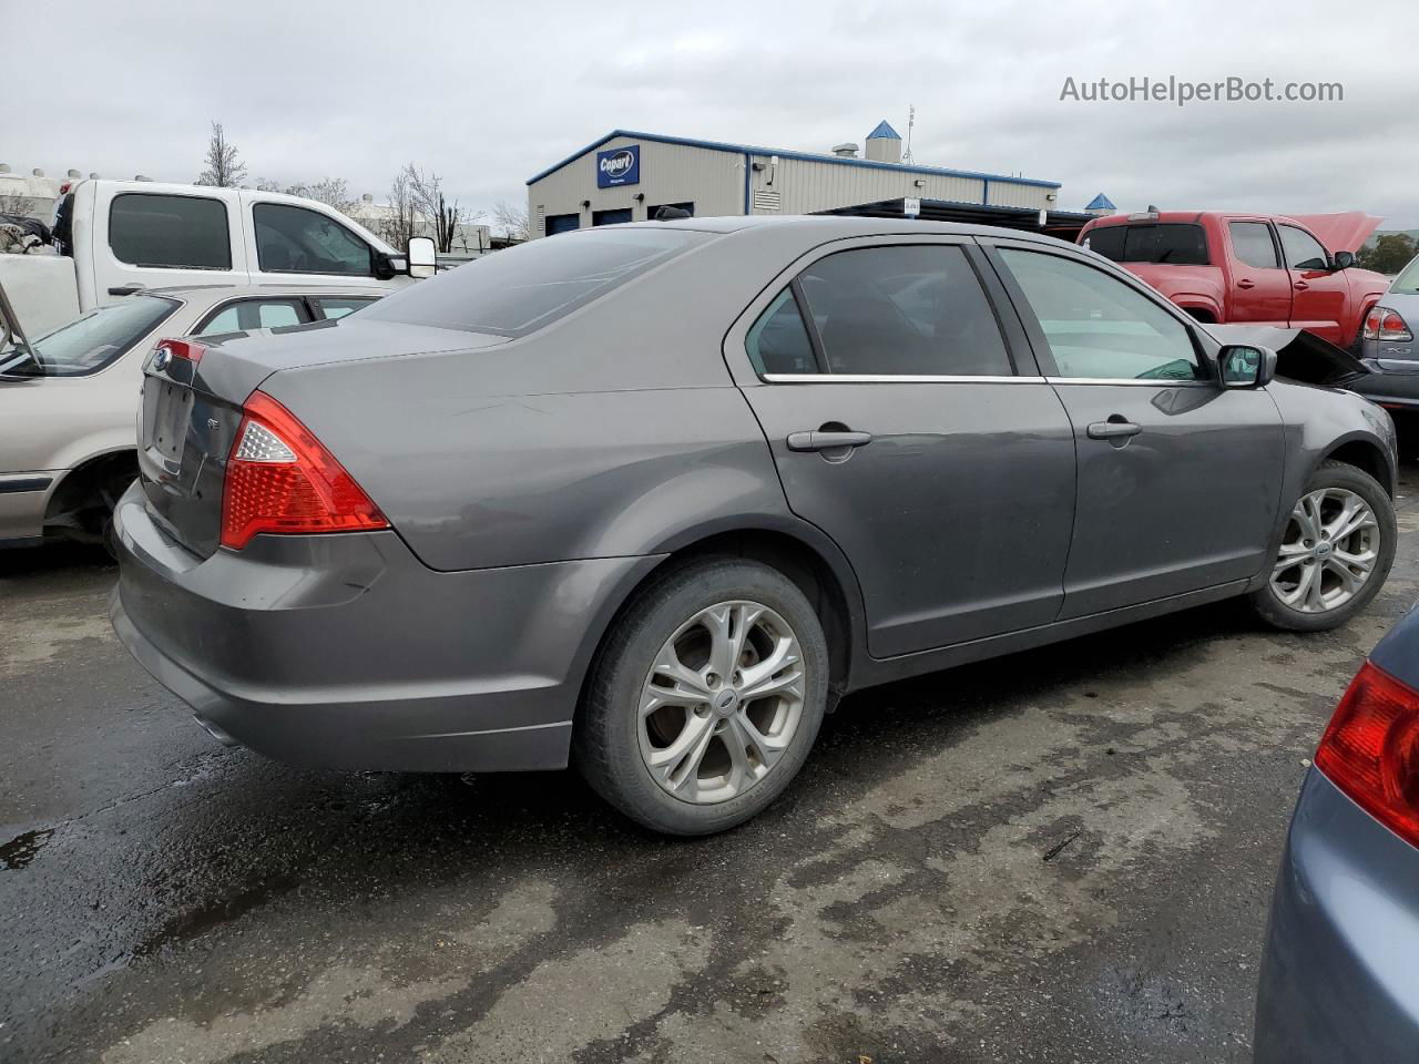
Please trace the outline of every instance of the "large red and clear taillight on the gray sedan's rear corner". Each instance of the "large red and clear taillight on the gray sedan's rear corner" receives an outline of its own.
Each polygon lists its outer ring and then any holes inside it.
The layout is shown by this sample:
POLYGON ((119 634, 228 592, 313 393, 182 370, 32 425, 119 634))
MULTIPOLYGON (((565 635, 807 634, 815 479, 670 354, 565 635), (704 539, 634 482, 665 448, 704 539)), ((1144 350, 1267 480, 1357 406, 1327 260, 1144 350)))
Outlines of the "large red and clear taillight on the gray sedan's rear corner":
POLYGON ((240 550, 260 532, 358 532, 385 515, 295 414, 264 392, 247 400, 227 457, 221 545, 240 550))

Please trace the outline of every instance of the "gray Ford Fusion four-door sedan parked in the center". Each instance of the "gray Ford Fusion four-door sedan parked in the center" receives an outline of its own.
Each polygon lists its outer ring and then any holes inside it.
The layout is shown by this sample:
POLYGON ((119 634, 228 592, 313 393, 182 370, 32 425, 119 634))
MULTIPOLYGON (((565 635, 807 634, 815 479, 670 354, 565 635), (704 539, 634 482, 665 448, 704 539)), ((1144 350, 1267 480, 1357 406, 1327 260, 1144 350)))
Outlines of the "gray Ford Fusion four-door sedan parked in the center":
POLYGON ((1334 627, 1393 426, 1047 237, 688 218, 149 356, 119 637, 217 738, 702 834, 849 691, 1227 596, 1334 627), (1277 376, 1280 369, 1280 376, 1277 376))

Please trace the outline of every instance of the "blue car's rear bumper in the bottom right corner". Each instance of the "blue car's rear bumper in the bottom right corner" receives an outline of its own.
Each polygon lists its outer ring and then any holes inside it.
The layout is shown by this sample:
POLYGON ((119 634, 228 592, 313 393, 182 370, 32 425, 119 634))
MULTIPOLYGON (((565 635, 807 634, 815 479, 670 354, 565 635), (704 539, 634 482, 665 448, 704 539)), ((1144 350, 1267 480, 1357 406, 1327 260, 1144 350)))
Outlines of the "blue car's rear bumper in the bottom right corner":
POLYGON ((1413 1060, 1419 850, 1311 770, 1296 806, 1257 990, 1257 1064, 1413 1060))

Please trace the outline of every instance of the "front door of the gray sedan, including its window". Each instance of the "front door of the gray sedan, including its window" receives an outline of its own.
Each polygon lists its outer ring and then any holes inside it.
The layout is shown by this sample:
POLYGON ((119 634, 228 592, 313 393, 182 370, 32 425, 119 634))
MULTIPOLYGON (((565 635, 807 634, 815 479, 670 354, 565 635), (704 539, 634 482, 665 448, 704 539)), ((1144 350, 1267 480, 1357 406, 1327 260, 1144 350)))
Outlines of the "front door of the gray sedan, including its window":
POLYGON ((1078 453, 1061 619, 1215 587, 1264 565, 1280 505, 1281 419, 1225 389, 1203 338, 1121 272, 995 241, 1078 453))

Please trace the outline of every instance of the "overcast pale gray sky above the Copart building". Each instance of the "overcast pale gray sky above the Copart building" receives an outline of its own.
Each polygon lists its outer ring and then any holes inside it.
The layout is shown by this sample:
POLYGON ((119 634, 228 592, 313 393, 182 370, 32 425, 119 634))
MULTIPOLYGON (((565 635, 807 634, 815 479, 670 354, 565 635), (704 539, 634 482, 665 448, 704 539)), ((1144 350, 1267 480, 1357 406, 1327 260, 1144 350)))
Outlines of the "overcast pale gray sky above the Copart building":
POLYGON ((1364 209, 1419 227, 1419 4, 316 3, 33 0, 6 9, 0 162, 193 180, 207 122, 250 180, 406 162, 464 206, 614 128, 772 148, 861 143, 1063 182, 1060 207, 1364 209), (1066 78, 1338 81, 1344 102, 1061 101, 1066 78))

